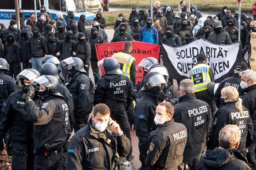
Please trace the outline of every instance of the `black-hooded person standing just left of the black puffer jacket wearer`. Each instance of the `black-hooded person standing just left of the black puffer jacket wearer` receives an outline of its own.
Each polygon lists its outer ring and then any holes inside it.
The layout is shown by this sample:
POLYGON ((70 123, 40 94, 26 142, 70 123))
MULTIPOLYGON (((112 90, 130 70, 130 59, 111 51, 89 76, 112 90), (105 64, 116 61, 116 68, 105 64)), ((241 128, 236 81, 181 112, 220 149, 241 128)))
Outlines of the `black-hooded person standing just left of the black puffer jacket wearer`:
POLYGON ((63 60, 72 56, 72 51, 74 50, 76 45, 76 42, 73 41, 72 38, 73 38, 72 31, 67 31, 65 40, 60 41, 58 50, 57 50, 58 52, 56 53, 56 56, 60 58, 60 60, 63 60))

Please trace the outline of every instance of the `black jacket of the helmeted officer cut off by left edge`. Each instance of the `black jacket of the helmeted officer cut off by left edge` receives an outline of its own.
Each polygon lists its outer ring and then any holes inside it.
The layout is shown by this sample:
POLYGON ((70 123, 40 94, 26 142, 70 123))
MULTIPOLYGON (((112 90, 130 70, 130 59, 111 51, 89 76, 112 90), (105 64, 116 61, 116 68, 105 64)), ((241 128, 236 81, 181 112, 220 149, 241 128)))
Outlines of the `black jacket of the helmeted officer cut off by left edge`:
MULTIPOLYGON (((0 108, 11 93, 16 92, 16 83, 7 71, 0 70, 0 108)), ((5 104, 4 104, 5 105, 5 104)))

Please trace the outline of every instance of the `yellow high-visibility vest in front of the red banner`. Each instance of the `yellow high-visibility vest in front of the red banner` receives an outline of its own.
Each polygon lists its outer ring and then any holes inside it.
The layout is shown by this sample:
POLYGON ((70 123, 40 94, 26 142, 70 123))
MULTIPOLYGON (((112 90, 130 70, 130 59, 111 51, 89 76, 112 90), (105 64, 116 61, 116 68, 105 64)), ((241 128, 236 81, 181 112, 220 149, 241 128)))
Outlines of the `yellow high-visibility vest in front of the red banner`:
POLYGON ((132 62, 135 60, 134 57, 132 57, 130 54, 126 54, 124 52, 118 52, 114 53, 112 55, 113 58, 115 58, 119 62, 119 68, 122 70, 123 75, 130 77, 130 68, 132 65, 132 62))

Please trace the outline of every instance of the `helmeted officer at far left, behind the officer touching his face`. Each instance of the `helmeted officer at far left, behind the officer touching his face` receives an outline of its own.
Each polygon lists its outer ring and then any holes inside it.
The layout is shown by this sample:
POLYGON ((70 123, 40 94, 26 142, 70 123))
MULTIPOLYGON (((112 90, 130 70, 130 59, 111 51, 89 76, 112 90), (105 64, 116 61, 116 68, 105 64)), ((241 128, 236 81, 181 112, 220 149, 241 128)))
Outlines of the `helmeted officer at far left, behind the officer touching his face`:
POLYGON ((3 141, 5 133, 9 130, 13 148, 9 147, 10 141, 6 145, 7 153, 12 154, 12 169, 33 169, 33 122, 29 120, 24 98, 32 79, 39 76, 40 73, 35 69, 24 69, 18 74, 17 80, 21 80, 23 87, 20 91, 12 93, 2 108, 0 140, 3 141))

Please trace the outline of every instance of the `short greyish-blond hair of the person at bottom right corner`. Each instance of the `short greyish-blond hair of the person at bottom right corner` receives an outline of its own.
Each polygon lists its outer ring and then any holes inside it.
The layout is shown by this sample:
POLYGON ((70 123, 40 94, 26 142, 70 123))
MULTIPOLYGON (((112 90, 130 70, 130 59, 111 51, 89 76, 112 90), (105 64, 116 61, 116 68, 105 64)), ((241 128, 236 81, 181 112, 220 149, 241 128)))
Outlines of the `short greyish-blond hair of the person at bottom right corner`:
POLYGON ((220 130, 219 144, 225 149, 234 148, 240 141, 241 132, 237 125, 226 125, 220 130))

